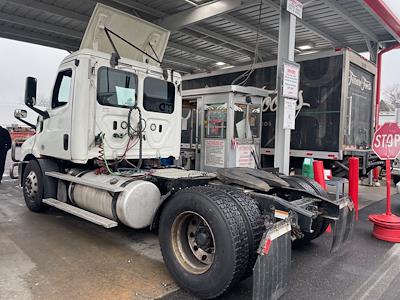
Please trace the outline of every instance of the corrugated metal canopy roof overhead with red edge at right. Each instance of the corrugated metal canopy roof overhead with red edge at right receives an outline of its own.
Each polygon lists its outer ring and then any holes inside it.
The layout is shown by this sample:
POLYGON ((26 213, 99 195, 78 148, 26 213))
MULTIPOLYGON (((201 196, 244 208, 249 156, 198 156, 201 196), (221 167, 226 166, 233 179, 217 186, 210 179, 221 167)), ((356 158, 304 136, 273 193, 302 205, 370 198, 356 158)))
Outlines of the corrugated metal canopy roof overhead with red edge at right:
MULTIPOLYGON (((164 62, 181 72, 253 61, 260 0, 0 0, 0 37, 77 50, 97 2, 169 29, 164 62)), ((309 44, 311 51, 350 47, 362 52, 371 49, 371 42, 399 39, 390 12, 390 20, 376 12, 382 11, 381 0, 302 2, 296 46, 309 44)), ((278 0, 262 0, 259 61, 277 56, 279 11, 278 0)))

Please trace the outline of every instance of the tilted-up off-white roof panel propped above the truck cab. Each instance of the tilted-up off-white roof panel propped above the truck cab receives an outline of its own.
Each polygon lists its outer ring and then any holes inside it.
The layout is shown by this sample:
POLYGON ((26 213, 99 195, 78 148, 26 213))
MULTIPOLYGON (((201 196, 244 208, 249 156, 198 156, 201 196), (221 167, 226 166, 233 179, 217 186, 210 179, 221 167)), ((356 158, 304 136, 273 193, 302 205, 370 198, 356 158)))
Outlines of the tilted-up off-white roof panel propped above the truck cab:
MULTIPOLYGON (((103 4, 97 4, 83 36, 80 49, 93 49, 106 53, 113 53, 114 49, 107 38, 104 28, 115 32, 125 40, 160 61, 167 47, 169 31, 155 24, 139 19, 103 4), (157 55, 154 55, 151 46, 157 55)), ((158 66, 155 60, 149 58, 134 47, 128 45, 118 37, 110 34, 119 55, 123 58, 133 59, 158 66)))

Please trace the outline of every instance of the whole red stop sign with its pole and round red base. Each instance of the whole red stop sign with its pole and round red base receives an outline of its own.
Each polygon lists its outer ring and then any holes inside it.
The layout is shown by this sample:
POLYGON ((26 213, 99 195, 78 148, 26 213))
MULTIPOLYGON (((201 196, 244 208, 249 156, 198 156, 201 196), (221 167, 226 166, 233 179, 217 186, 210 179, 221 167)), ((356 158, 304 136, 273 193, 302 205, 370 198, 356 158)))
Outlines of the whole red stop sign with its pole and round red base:
POLYGON ((385 123, 374 134, 372 150, 381 160, 386 160, 386 213, 369 215, 374 223, 373 235, 381 240, 400 242, 400 218, 391 211, 390 203, 390 160, 400 153, 400 127, 397 123, 385 123))

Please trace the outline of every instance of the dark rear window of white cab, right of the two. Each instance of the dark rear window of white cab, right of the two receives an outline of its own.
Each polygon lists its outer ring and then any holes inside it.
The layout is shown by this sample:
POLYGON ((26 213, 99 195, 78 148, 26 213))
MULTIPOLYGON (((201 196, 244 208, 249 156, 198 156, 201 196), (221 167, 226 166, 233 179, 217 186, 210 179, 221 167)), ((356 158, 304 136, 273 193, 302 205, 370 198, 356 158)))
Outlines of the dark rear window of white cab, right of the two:
POLYGON ((143 107, 147 111, 172 114, 175 105, 175 85, 172 82, 146 77, 143 107))

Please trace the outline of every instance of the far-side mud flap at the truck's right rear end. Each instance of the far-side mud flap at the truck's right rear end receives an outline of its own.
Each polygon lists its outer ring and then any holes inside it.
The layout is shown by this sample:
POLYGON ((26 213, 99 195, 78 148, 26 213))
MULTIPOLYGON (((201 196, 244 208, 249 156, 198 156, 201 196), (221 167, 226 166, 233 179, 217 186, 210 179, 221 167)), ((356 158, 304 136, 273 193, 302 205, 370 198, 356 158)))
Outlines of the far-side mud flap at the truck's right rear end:
POLYGON ((346 199, 340 203, 339 216, 332 221, 332 245, 331 253, 337 252, 351 240, 354 231, 355 210, 353 202, 346 199))

